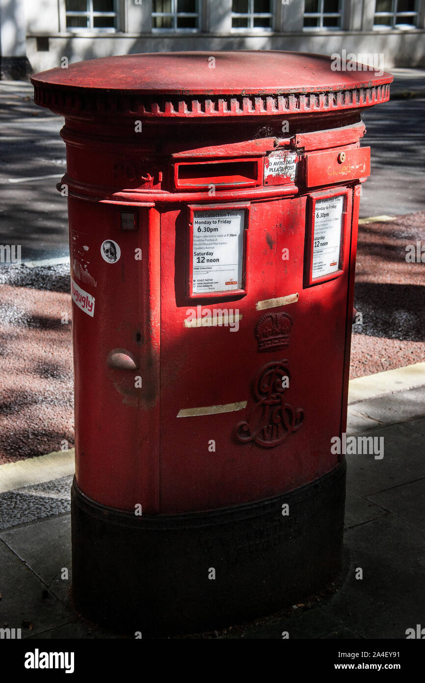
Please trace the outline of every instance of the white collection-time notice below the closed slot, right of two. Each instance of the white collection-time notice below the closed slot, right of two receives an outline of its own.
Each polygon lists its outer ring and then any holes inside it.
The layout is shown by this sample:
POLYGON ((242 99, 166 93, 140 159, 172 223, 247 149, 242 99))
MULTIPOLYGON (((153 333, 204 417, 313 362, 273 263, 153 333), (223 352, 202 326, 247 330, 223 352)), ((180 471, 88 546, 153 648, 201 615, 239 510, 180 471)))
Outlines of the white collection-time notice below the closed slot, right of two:
POLYGON ((341 218, 344 197, 320 199, 314 208, 312 278, 329 275, 339 269, 341 218))

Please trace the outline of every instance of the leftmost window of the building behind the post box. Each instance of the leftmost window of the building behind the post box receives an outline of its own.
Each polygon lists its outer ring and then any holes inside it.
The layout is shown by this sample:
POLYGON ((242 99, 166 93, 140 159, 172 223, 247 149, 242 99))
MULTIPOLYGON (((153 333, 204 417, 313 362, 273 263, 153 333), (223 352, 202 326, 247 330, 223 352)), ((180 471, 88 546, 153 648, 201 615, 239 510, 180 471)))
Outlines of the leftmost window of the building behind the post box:
POLYGON ((68 31, 115 31, 117 27, 115 0, 65 0, 65 14, 68 31))

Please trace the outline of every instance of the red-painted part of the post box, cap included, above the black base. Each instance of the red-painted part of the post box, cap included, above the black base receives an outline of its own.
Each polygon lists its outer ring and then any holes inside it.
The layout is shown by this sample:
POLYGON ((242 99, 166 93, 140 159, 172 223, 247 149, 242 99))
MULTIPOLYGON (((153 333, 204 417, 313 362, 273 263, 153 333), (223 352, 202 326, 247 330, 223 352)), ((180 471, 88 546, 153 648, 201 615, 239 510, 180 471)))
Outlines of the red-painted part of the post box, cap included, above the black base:
POLYGON ((392 76, 241 52, 111 57, 32 81, 65 114, 79 488, 175 514, 332 471, 369 173, 360 113, 392 76), (237 267, 202 265, 216 239, 237 267))

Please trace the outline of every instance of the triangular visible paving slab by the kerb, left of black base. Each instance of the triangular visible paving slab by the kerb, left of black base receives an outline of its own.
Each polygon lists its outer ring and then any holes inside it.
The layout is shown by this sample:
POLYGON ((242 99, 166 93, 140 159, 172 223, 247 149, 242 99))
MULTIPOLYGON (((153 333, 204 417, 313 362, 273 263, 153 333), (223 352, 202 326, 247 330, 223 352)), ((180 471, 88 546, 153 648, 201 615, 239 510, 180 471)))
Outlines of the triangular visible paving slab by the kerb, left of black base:
POLYGON ((0 539, 43 581, 49 593, 68 600, 72 580, 70 514, 8 529, 0 533, 0 539), (63 568, 68 569, 68 580, 61 579, 63 568))

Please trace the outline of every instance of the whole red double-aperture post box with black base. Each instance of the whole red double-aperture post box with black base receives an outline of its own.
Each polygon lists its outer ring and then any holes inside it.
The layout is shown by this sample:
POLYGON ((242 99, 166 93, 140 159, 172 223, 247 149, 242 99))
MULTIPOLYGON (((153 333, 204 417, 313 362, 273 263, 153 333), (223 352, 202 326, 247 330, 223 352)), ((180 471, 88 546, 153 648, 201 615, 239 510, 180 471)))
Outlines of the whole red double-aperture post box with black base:
POLYGON ((65 116, 74 600, 142 632, 291 604, 341 566, 361 112, 323 55, 107 57, 65 116))

